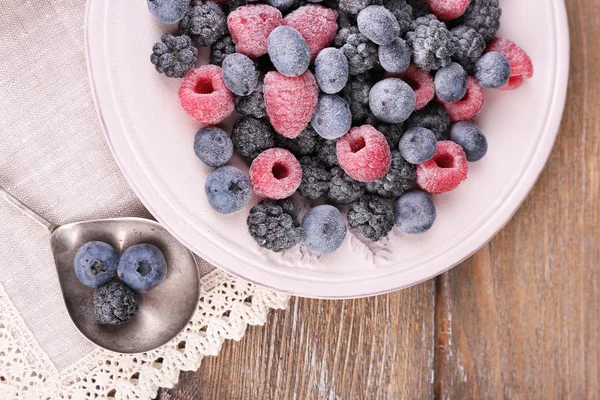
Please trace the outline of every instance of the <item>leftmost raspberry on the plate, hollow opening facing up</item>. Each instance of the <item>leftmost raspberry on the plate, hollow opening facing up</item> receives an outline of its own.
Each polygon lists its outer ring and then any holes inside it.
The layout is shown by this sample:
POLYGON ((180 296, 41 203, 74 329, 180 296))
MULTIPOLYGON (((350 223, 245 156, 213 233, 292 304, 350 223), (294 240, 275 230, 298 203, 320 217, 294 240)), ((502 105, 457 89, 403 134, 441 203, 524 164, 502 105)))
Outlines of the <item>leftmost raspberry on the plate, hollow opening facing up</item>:
POLYGON ((223 122, 234 108, 233 95, 216 65, 203 65, 188 72, 179 88, 179 101, 189 115, 206 125, 223 122))

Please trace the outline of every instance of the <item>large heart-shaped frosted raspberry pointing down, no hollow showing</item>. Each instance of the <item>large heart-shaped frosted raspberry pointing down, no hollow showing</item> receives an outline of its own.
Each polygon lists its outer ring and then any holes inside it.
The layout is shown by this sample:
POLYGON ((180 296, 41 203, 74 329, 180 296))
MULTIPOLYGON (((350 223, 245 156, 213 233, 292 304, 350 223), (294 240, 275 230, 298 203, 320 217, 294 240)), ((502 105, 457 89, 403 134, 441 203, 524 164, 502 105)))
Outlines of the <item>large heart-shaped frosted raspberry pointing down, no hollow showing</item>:
POLYGON ((306 128, 315 113, 319 88, 310 71, 296 77, 271 71, 265 76, 264 98, 273 128, 293 139, 306 128))

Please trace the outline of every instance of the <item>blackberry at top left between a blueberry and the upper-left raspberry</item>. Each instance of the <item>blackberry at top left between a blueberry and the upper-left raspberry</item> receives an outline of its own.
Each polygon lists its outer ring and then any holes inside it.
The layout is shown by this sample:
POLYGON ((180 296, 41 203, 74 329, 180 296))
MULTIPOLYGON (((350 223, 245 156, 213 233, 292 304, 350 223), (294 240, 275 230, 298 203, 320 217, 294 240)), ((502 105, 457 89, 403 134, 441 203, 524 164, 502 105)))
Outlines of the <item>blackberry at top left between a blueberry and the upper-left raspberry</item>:
POLYGON ((196 46, 210 46, 227 33, 227 16, 212 1, 196 1, 179 21, 179 30, 196 46))

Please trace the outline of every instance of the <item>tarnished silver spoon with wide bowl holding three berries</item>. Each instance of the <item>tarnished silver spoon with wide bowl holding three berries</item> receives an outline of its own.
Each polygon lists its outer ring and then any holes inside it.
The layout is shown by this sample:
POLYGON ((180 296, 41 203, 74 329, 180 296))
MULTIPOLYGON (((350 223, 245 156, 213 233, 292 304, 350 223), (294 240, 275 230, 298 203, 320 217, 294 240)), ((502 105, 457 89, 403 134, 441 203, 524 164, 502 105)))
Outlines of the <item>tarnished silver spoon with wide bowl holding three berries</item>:
POLYGON ((175 337, 194 314, 199 291, 196 260, 157 222, 114 218, 60 226, 42 218, 1 186, 0 197, 52 234, 50 244, 65 305, 77 329, 92 343, 119 353, 143 353, 175 337), (75 254, 90 240, 109 243, 119 254, 131 245, 150 243, 161 249, 167 260, 165 280, 139 295, 139 311, 123 325, 102 325, 96 320, 93 289, 75 276, 75 254))

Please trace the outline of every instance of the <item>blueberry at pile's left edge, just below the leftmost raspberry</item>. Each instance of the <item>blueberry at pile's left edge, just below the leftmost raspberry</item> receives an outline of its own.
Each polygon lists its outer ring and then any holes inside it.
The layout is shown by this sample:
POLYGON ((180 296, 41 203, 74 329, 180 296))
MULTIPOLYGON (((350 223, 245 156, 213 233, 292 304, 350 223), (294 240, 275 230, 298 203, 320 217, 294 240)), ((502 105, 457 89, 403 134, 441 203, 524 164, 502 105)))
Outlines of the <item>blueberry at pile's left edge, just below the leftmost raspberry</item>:
POLYGON ((208 126, 196 133, 194 152, 209 167, 220 167, 233 155, 233 142, 224 130, 208 126))

